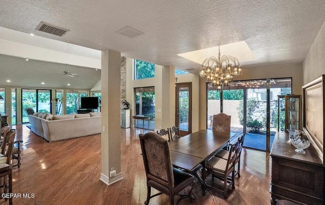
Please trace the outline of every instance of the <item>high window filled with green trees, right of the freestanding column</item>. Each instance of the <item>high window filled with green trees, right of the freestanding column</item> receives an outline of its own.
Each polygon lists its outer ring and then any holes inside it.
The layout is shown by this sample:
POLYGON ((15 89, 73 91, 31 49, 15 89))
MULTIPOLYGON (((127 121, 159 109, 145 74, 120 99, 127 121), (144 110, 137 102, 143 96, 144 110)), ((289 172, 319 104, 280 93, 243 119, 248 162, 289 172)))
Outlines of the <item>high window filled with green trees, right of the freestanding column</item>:
POLYGON ((154 77, 154 64, 142 60, 134 59, 134 80, 154 77))

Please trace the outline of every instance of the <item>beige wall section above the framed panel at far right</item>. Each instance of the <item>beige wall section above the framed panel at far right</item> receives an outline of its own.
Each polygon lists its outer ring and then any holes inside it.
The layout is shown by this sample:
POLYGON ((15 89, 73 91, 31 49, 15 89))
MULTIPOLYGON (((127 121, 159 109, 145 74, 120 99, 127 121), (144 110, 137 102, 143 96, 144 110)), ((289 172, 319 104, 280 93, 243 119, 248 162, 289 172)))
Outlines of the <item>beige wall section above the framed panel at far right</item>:
POLYGON ((303 85, 325 74, 325 22, 303 63, 303 85))

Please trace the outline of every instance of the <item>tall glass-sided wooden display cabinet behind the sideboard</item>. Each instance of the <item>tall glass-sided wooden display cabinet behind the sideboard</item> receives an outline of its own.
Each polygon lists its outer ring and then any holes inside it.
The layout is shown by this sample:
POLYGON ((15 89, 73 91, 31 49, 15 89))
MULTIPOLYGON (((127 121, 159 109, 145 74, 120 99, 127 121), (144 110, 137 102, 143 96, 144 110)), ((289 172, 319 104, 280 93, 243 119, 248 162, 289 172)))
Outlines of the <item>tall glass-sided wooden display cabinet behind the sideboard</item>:
POLYGON ((300 97, 301 95, 278 95, 278 131, 299 129, 300 97))

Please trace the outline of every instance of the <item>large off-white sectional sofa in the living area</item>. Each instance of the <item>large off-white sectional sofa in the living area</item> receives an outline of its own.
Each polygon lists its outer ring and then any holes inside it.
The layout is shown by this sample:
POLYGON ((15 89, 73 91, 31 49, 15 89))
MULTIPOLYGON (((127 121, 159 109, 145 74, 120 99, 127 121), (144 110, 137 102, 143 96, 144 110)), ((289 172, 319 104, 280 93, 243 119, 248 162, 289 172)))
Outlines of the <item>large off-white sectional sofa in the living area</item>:
POLYGON ((48 142, 101 133, 101 113, 28 115, 30 129, 48 142), (42 117, 43 115, 43 117, 42 117))

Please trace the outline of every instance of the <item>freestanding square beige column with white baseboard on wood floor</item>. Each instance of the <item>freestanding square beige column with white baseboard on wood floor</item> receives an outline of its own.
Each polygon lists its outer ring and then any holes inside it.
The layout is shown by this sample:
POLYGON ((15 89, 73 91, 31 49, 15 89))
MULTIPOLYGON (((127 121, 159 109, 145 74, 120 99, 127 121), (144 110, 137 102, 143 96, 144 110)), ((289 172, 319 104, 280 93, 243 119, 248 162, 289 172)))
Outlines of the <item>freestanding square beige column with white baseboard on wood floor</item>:
POLYGON ((120 140, 121 53, 102 51, 102 173, 101 181, 111 185, 122 179, 120 140), (115 174, 110 173, 115 170, 115 174))

